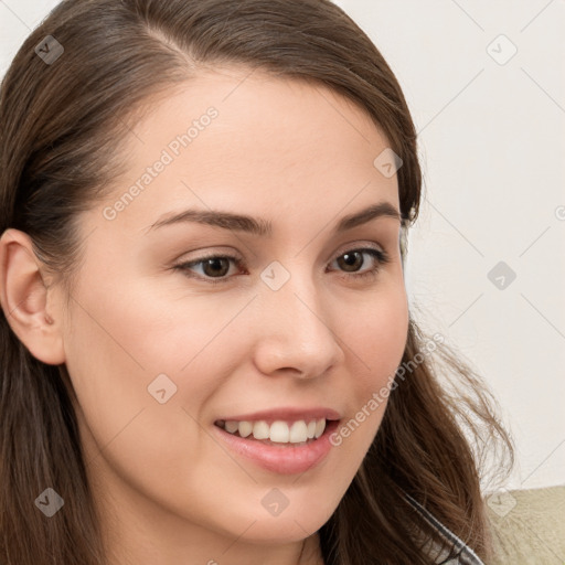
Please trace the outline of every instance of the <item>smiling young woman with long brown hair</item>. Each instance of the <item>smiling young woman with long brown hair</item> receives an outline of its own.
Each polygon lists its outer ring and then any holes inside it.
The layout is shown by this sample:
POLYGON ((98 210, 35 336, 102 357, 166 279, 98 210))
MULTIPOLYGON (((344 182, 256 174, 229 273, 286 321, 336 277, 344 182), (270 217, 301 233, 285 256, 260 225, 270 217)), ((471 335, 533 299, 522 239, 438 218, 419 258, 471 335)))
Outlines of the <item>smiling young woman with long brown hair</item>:
POLYGON ((2 563, 489 558, 510 440, 409 315, 415 128, 340 8, 64 1, 0 125, 2 563))

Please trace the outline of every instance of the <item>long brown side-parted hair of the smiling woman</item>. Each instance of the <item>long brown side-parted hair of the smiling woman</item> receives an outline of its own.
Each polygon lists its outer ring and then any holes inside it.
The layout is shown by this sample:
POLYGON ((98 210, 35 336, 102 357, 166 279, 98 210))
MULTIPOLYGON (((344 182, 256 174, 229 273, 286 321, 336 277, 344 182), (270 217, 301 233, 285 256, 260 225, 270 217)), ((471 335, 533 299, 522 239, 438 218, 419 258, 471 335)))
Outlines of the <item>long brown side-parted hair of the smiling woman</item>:
MULTIPOLYGON (((25 40, 1 85, 0 233, 25 232, 71 291, 84 252, 78 215, 122 172, 129 125, 199 68, 231 63, 330 87, 362 107, 402 158, 401 212, 414 223, 422 173, 408 107, 377 49, 330 0, 65 0, 25 40)), ((102 565, 66 366, 33 358, 8 318, 0 320, 0 562, 102 565), (65 493, 64 511, 49 520, 34 507, 46 487, 65 493)), ((511 462, 511 443, 470 364, 447 344, 431 363, 426 339, 411 316, 402 364, 409 370, 396 375, 375 440, 319 531, 328 565, 430 563, 416 532, 437 536, 404 493, 489 555, 483 454, 497 440, 511 462)))

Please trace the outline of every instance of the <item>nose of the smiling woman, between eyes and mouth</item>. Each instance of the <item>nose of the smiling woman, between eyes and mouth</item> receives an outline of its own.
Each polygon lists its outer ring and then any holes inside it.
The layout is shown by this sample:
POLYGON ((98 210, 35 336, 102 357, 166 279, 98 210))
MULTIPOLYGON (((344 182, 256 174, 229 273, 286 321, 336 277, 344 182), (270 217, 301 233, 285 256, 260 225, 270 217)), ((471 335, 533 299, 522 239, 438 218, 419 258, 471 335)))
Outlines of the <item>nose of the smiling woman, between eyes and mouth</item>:
POLYGON ((255 363, 264 374, 312 379, 343 361, 335 305, 310 277, 295 273, 276 291, 262 288, 258 298, 255 363))

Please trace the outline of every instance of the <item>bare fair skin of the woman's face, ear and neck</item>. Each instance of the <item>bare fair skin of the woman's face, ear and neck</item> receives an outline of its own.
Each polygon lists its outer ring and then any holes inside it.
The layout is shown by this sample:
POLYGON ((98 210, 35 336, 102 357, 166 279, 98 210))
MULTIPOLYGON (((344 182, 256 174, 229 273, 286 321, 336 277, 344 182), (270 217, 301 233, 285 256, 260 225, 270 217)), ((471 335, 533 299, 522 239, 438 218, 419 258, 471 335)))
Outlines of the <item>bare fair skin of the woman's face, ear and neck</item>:
MULTIPOLYGON (((212 438, 213 423, 280 406, 327 406, 348 422, 402 360, 408 308, 399 222, 383 216, 331 234, 341 217, 379 201, 398 210, 396 175, 373 166, 387 140, 339 94, 248 74, 202 73, 135 125, 124 141, 127 173, 82 217, 85 259, 68 309, 29 237, 8 230, 0 239, 1 303, 12 329, 34 356, 70 372, 116 565, 322 563, 316 532, 359 469, 386 399, 302 475, 233 454, 212 438), (210 106, 218 111, 211 125, 106 220, 104 207, 210 106), (189 207, 264 217, 273 236, 196 223, 146 233, 189 207), (370 246, 391 260, 355 279, 337 259, 370 246), (209 253, 241 256, 243 267, 231 262, 217 285, 172 269, 209 253), (290 274, 277 291, 260 278, 273 260, 290 274), (161 373, 177 386, 164 404, 148 393, 161 373), (277 516, 260 503, 273 488, 289 501, 277 516)), ((375 265, 361 257, 356 270, 375 265)), ((206 273, 192 268, 195 277, 206 273)))

